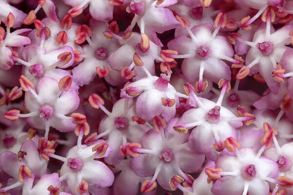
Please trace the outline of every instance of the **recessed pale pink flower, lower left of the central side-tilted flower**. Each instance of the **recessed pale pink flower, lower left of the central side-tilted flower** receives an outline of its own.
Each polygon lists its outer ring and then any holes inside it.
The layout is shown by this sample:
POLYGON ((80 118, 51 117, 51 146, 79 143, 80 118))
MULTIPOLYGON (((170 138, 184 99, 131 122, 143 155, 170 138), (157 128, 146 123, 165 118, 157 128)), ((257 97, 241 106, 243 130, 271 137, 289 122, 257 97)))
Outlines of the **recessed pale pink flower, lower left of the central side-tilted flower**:
MULTIPOLYGON (((104 100, 103 100, 104 101, 104 100)), ((98 95, 92 94, 89 102, 94 108, 100 108, 106 113, 106 117, 99 125, 99 135, 93 134, 86 140, 91 143, 101 137, 105 137, 113 152, 105 157, 109 164, 117 164, 123 156, 120 155, 120 146, 126 146, 127 142, 140 142, 149 126, 143 119, 136 116, 135 102, 133 99, 122 98, 118 100, 110 113, 99 100, 98 95)))

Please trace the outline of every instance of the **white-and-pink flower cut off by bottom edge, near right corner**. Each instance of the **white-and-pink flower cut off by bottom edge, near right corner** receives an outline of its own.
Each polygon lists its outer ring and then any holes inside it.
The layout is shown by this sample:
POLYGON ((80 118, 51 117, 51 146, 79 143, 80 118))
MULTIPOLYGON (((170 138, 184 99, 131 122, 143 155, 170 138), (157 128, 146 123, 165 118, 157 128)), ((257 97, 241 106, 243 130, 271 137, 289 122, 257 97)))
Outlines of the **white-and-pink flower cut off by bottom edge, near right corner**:
POLYGON ((260 155, 261 151, 256 153, 253 148, 236 150, 235 156, 220 155, 216 168, 221 171, 216 172, 222 177, 213 183, 211 192, 214 195, 269 194, 268 181, 275 182, 278 165, 260 155))

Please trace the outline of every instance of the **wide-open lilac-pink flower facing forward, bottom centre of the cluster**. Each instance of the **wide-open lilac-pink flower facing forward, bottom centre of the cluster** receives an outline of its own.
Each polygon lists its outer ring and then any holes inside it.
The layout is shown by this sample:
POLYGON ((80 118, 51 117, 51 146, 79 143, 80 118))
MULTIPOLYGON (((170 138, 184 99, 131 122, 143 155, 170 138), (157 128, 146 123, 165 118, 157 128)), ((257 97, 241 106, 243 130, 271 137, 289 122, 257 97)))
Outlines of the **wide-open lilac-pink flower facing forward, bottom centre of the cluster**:
MULTIPOLYGON (((161 187, 170 190, 169 179, 175 175, 183 177, 188 185, 192 186, 193 178, 188 174, 199 170, 204 162, 204 155, 194 154, 188 147, 188 134, 180 134, 173 130, 178 118, 171 119, 167 127, 159 126, 148 130, 142 139, 142 148, 133 149, 140 153, 138 157, 131 158, 130 167, 138 176, 152 176, 145 181, 145 189, 152 189, 155 180, 161 187)), ((161 122, 162 124, 162 122, 161 122)), ((131 150, 131 149, 130 149, 131 150)), ((144 185, 143 185, 144 186, 144 185)))

